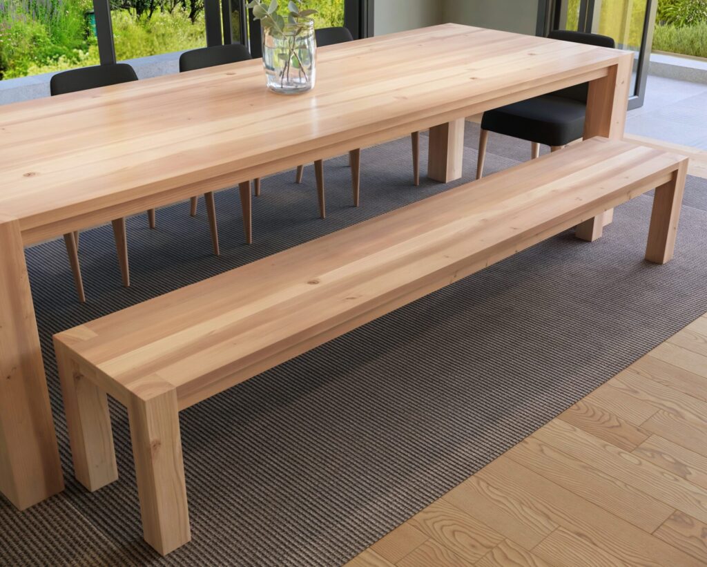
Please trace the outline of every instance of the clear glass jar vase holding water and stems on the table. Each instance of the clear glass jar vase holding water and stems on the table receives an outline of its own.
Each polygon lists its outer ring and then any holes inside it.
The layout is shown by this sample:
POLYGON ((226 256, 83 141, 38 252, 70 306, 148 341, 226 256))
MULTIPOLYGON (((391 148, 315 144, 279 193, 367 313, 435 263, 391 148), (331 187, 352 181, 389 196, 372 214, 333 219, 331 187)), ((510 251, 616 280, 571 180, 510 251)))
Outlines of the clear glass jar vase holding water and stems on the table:
POLYGON ((267 86, 276 93, 293 95, 314 87, 317 40, 314 21, 286 23, 283 33, 263 30, 263 66, 267 86))

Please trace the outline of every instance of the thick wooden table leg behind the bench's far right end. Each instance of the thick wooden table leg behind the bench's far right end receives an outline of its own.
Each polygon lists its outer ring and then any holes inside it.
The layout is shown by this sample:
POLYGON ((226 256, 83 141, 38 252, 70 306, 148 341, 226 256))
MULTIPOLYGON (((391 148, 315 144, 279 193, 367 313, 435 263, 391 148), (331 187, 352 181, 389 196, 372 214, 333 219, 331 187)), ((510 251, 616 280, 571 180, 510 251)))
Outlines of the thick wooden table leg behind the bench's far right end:
MULTIPOLYGON (((621 139, 624 137, 626 110, 631 88, 631 66, 633 54, 624 54, 619 63, 609 67, 607 76, 589 83, 587 116, 584 122, 584 139, 593 136, 621 139)), ((581 240, 592 242, 601 238, 602 228, 611 223, 614 211, 606 211, 590 218, 577 227, 576 235, 581 240)))

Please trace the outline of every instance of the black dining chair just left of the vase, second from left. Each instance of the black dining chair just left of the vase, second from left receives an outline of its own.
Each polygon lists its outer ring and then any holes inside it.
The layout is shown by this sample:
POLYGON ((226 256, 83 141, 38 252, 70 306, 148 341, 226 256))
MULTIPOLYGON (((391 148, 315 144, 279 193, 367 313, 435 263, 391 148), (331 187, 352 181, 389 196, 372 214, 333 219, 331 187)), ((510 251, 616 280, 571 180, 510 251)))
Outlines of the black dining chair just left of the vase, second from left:
MULTIPOLYGON (((201 47, 184 52, 179 58, 180 73, 185 71, 196 71, 217 65, 238 63, 252 59, 250 52, 245 45, 232 43, 228 45, 215 45, 214 47, 201 47)), ((255 180, 255 194, 260 194, 260 180, 255 180)), ((206 210, 209 215, 211 226, 211 240, 214 242, 214 252, 218 255, 218 229, 216 226, 216 204, 214 204, 214 193, 204 194, 206 210)), ((245 240, 248 244, 252 242, 252 212, 250 201, 250 180, 240 184, 240 205, 243 208, 243 226, 245 230, 245 240)), ((197 214, 197 197, 192 197, 191 214, 197 214)))

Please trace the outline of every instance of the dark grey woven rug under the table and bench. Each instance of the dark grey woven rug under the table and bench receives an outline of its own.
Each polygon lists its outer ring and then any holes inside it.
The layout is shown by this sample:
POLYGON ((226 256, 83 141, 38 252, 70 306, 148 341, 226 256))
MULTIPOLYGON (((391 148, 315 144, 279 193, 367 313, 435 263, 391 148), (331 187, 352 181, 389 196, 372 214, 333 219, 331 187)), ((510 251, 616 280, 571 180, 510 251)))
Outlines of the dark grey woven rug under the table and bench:
MULTIPOLYGON (((477 134, 468 124, 462 182, 477 134)), ((489 150, 489 172, 530 154, 501 136, 489 150)), ((218 194, 220 258, 203 203, 197 218, 188 204, 158 211, 154 231, 132 218, 128 290, 110 228, 84 233, 86 305, 63 242, 28 250, 66 491, 24 513, 0 497, 0 563, 344 563, 707 311, 707 182, 690 178, 670 264, 643 262, 652 201, 640 197, 600 241, 559 235, 182 412, 193 539, 161 559, 142 541, 118 404, 120 479, 94 494, 74 481, 52 333, 458 185, 412 186, 409 139, 362 163, 354 209, 346 160, 327 162, 325 221, 311 167, 301 186, 291 172, 264 180, 250 247, 238 192, 218 194)))

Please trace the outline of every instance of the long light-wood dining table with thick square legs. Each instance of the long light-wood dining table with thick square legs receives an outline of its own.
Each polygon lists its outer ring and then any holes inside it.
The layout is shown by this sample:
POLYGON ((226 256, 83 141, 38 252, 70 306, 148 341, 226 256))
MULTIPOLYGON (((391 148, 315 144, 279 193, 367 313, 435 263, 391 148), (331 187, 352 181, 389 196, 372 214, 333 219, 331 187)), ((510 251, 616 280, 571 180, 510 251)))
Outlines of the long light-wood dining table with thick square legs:
POLYGON ((466 117, 578 83, 585 138, 620 138, 632 64, 446 24, 322 48, 303 95, 253 60, 0 107, 0 491, 24 509, 64 487, 25 247, 426 129, 428 176, 450 182, 466 117))

